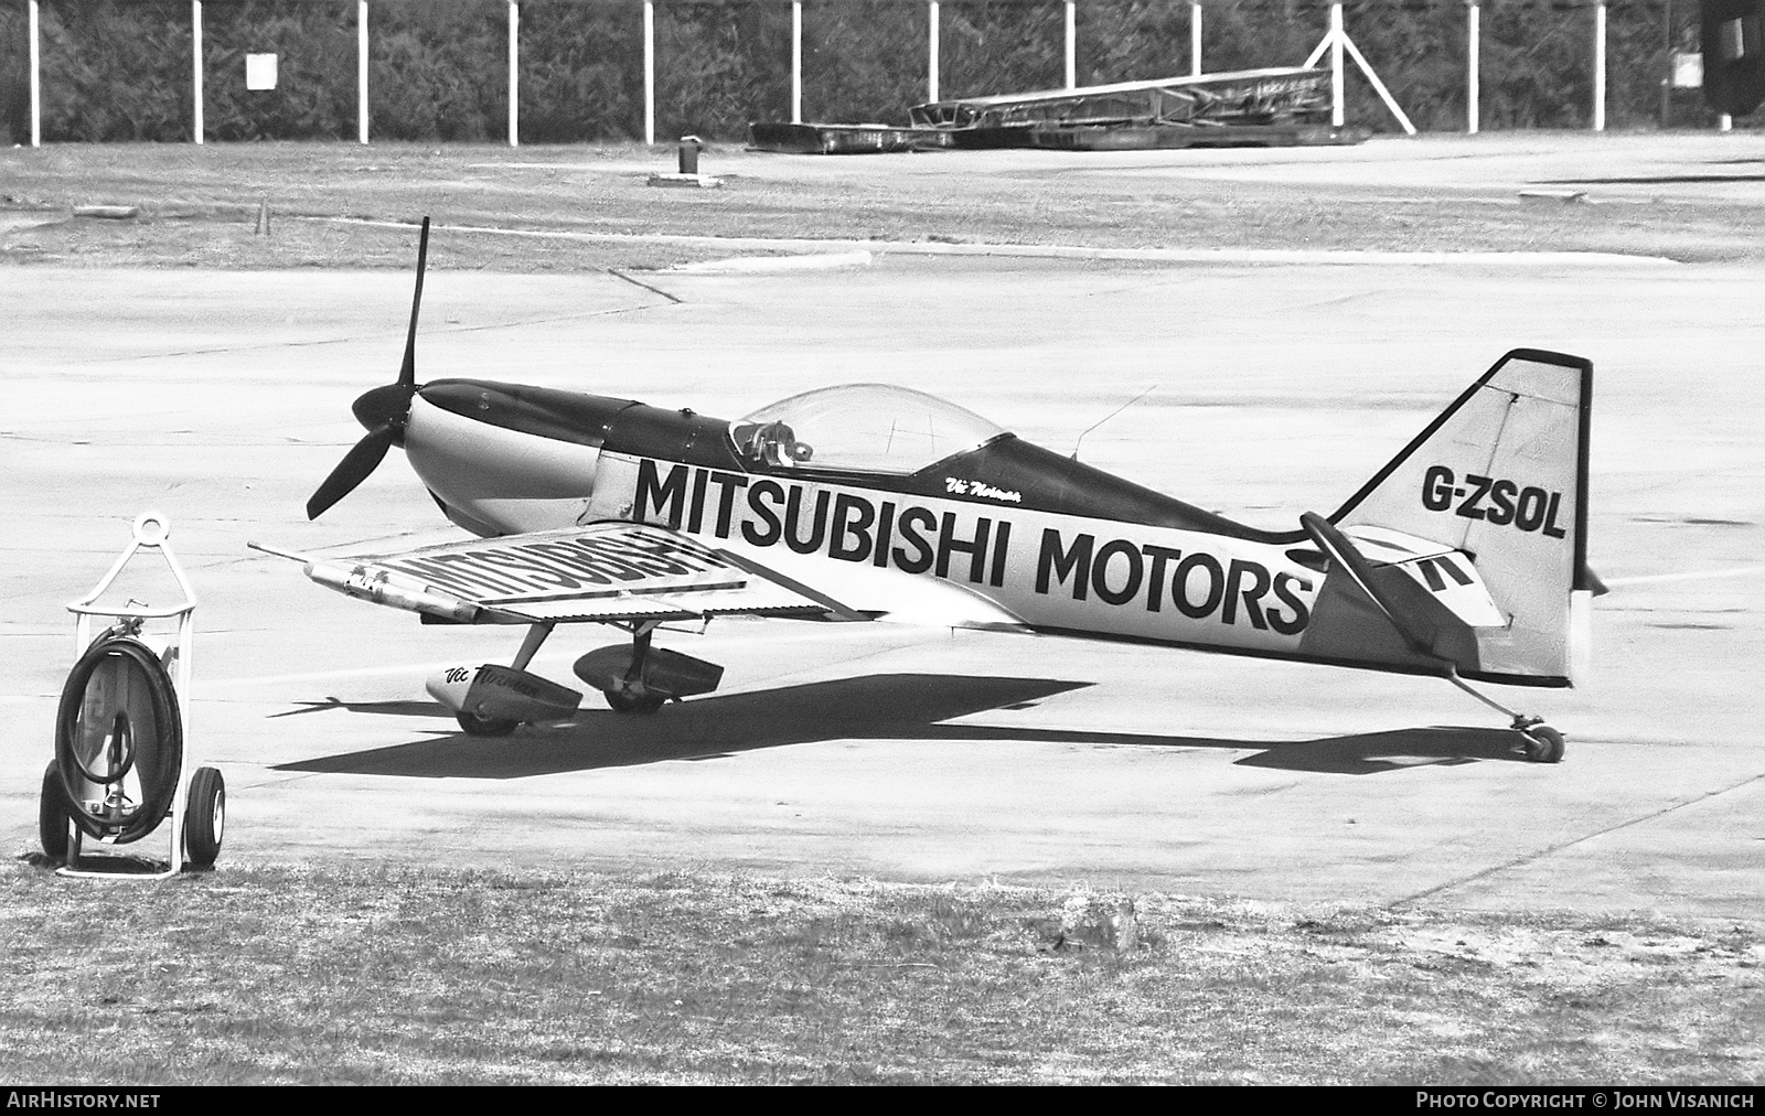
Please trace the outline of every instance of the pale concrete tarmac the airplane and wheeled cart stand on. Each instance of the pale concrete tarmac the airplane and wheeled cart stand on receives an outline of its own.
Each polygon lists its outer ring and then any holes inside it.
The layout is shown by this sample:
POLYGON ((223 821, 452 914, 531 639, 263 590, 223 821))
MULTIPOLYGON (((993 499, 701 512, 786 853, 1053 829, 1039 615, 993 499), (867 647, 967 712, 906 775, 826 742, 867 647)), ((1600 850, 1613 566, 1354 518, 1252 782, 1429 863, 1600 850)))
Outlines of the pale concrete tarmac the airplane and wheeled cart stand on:
MULTIPOLYGON (((1061 452, 1153 387, 1082 457, 1292 526, 1506 350, 1592 358, 1590 560, 1613 586, 1594 673, 1486 689, 1560 728, 1567 759, 1513 759, 1504 719, 1437 680, 754 620, 664 639, 727 667, 715 696, 651 719, 591 696, 570 724, 469 738, 422 682, 507 660, 517 632, 420 627, 244 546, 457 535, 397 452, 318 523, 302 510, 360 436, 349 403, 397 373, 409 275, 30 267, 0 272, 4 848, 35 848, 64 606, 152 507, 201 600, 191 749, 226 773, 222 867, 690 865, 1765 916, 1760 270, 879 253, 641 279, 434 272, 418 380, 731 418, 891 381, 1061 452)), ((535 669, 574 683, 568 662, 614 641, 560 630, 535 669)))

